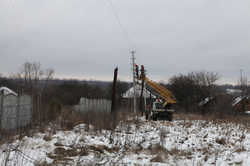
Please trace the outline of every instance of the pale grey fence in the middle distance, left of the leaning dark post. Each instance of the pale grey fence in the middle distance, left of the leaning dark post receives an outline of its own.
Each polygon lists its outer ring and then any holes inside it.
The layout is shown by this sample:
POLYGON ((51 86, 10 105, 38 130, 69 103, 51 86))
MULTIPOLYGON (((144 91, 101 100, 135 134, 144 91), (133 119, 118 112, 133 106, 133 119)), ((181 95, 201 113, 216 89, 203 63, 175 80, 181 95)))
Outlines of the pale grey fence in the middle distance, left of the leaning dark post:
POLYGON ((74 109, 81 113, 88 111, 111 112, 111 101, 107 99, 81 98, 79 104, 74 106, 74 109))

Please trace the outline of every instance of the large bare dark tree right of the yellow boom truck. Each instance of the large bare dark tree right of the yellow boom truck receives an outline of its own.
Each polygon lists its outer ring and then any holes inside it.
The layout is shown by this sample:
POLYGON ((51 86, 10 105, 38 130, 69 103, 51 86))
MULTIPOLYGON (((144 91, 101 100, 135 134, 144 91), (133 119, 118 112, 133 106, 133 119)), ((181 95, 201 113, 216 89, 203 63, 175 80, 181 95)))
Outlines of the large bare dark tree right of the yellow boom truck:
POLYGON ((191 72, 170 78, 169 88, 174 93, 178 103, 186 110, 193 110, 193 106, 207 97, 216 94, 216 81, 219 75, 213 72, 191 72))

